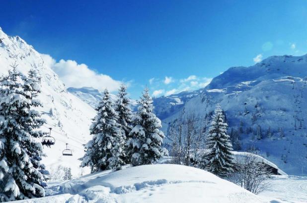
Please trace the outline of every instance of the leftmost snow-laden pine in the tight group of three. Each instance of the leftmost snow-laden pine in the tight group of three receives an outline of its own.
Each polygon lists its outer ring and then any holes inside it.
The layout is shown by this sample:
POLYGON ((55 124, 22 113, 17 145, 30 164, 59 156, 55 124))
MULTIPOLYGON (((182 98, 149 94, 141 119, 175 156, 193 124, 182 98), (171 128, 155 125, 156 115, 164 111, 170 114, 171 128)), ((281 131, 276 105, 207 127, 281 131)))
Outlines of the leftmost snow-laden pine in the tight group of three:
POLYGON ((93 139, 84 146, 85 154, 81 158, 81 166, 91 166, 91 172, 118 170, 125 164, 123 160, 125 143, 120 125, 117 123, 118 114, 113 108, 108 90, 104 91, 102 101, 96 110, 97 115, 90 127, 93 139))

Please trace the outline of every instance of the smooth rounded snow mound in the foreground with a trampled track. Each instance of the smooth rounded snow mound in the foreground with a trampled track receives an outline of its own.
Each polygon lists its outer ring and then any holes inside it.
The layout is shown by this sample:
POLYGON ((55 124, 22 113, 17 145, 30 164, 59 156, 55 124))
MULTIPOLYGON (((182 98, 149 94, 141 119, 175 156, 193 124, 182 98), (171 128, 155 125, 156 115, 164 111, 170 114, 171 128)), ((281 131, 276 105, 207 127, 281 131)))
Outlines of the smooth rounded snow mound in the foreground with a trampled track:
MULTIPOLYGON (((50 184, 50 197, 28 203, 264 203, 261 198, 212 173, 183 165, 156 164, 103 171, 50 184)), ((278 203, 275 200, 275 203, 278 203)))

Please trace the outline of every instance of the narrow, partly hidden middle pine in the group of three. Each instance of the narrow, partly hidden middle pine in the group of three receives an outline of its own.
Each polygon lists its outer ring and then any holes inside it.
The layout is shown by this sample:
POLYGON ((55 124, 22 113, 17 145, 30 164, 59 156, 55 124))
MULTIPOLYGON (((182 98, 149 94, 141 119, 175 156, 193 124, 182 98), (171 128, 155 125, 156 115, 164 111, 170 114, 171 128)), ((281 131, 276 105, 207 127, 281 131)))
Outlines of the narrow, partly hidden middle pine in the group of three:
POLYGON ((125 162, 130 163, 131 154, 129 154, 127 141, 130 139, 129 133, 132 130, 133 113, 130 108, 130 100, 127 97, 127 87, 122 84, 118 90, 117 101, 115 103, 115 110, 118 113, 118 123, 122 129, 123 140, 125 141, 124 152, 125 162))

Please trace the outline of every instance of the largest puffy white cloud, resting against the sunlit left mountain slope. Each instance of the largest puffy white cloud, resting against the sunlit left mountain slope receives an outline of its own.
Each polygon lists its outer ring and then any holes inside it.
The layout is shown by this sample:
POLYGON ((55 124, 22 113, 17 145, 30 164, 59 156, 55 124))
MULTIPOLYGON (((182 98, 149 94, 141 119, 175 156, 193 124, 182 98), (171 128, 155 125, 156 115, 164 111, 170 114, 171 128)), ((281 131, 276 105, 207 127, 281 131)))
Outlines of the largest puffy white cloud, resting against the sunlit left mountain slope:
POLYGON ((53 71, 67 87, 93 87, 100 91, 107 88, 110 92, 118 90, 121 81, 112 79, 108 75, 97 73, 88 68, 84 63, 78 64, 74 60, 63 60, 57 62, 48 54, 41 54, 44 62, 53 71))

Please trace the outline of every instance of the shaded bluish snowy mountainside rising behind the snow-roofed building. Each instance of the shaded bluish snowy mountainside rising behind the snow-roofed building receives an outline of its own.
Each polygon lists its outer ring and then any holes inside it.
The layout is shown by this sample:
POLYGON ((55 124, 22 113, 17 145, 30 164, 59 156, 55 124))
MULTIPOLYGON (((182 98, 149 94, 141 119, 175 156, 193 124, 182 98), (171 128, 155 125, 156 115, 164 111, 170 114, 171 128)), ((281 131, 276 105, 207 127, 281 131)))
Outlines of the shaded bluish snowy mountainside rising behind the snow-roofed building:
MULTIPOLYGON (((241 127, 243 147, 253 144, 286 173, 306 175, 306 67, 307 55, 272 56, 254 66, 232 67, 181 109, 201 117, 220 102, 230 129, 241 127)), ((164 123, 177 115, 178 111, 164 123)))

